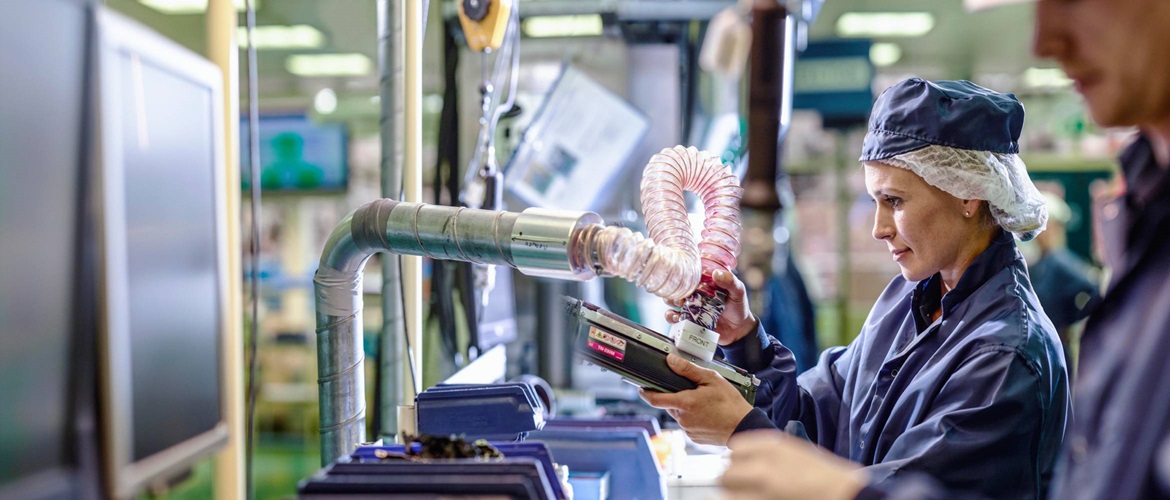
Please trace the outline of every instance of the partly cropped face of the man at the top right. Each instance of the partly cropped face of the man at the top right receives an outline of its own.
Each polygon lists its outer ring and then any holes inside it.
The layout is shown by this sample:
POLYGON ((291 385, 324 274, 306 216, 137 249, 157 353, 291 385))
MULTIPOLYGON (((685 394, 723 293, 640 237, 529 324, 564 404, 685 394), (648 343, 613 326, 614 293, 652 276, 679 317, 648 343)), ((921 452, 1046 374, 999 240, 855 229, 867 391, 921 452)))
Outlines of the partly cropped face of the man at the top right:
POLYGON ((1170 1, 1039 0, 1037 56, 1060 62, 1103 126, 1170 122, 1170 1))

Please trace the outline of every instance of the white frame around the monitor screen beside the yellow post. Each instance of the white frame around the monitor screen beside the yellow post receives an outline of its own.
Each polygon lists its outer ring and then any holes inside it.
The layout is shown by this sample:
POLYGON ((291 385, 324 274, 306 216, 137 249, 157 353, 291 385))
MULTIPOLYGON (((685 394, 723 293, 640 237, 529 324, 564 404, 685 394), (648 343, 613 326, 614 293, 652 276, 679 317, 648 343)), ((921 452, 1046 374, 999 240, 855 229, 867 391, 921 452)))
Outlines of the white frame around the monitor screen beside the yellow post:
POLYGON ((174 446, 135 461, 132 395, 129 370, 129 283, 126 274, 126 219, 123 189, 124 165, 121 151, 122 122, 121 75, 115 64, 106 63, 112 54, 132 52, 143 61, 166 68, 176 76, 205 85, 212 94, 213 107, 222 100, 222 80, 218 67, 170 39, 138 25, 108 8, 97 12, 97 74, 98 108, 112 112, 97 114, 98 135, 98 196, 101 217, 98 239, 101 258, 99 289, 102 307, 99 320, 99 388, 102 391, 103 465, 106 489, 115 498, 128 498, 150 482, 165 480, 184 472, 194 463, 212 456, 228 441, 228 381, 225 377, 228 317, 229 278, 227 254, 227 190, 225 179, 223 114, 212 116, 212 137, 215 169, 214 183, 215 238, 219 289, 219 422, 211 430, 188 438, 174 446))

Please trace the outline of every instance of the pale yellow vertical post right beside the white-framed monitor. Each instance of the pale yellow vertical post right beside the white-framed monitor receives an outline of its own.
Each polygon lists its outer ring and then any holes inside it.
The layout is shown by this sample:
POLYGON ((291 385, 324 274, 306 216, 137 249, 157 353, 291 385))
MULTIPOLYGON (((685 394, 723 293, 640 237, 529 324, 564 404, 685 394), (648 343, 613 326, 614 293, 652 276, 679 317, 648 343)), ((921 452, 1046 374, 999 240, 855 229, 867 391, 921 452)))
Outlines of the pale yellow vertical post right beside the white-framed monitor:
POLYGON ((227 171, 228 328, 223 333, 223 407, 229 431, 228 445, 215 457, 215 498, 243 499, 243 285, 240 262, 240 88, 235 40, 236 12, 232 0, 207 2, 207 57, 223 74, 223 165, 227 171))

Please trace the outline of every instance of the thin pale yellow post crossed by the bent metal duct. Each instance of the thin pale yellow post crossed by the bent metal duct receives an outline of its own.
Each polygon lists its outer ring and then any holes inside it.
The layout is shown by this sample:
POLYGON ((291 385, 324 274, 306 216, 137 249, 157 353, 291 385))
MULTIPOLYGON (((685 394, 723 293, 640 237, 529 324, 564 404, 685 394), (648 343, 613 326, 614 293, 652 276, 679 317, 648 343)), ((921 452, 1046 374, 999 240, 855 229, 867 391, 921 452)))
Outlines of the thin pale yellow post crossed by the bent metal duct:
MULTIPOLYGON (((404 144, 402 144, 402 191, 406 201, 422 201, 422 2, 406 0, 402 27, 406 30, 406 54, 404 56, 404 144)), ((411 337, 414 358, 414 377, 404 381, 411 388, 402 391, 407 404, 413 404, 415 388, 413 379, 422 381, 422 258, 402 255, 402 286, 406 301, 406 330, 411 337)), ((410 363, 404 363, 410 369, 410 363)))

